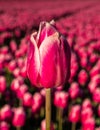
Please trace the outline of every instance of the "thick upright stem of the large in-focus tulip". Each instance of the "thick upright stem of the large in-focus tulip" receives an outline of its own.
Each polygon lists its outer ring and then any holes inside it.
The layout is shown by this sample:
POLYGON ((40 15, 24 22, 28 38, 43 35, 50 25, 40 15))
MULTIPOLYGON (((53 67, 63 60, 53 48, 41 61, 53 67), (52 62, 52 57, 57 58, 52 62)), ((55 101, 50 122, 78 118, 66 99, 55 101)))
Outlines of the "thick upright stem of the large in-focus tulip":
POLYGON ((51 89, 46 89, 46 130, 51 127, 51 89))

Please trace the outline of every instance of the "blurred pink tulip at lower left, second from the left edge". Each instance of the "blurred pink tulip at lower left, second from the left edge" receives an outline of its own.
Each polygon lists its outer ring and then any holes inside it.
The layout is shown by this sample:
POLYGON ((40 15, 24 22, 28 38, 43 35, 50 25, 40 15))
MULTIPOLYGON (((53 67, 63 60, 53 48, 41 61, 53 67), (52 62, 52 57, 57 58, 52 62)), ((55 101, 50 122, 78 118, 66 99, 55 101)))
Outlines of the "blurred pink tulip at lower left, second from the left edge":
POLYGON ((22 107, 14 109, 14 116, 12 119, 12 124, 15 127, 22 127, 25 124, 26 113, 22 107))

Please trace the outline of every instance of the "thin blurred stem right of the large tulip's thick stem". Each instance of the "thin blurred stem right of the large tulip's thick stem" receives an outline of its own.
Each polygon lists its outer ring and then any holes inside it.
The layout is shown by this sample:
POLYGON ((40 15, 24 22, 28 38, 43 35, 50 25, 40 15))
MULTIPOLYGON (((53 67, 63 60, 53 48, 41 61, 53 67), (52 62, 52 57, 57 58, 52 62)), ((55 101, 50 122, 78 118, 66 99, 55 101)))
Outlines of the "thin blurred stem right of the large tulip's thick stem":
POLYGON ((63 117, 63 109, 62 108, 58 108, 58 130, 63 130, 62 117, 63 117))

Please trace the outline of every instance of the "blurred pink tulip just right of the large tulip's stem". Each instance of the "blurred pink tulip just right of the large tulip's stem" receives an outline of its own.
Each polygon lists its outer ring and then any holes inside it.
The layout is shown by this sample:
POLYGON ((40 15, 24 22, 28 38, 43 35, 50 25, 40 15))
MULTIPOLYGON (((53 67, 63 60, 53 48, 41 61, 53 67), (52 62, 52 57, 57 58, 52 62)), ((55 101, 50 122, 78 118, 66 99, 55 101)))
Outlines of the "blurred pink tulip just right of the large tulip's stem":
POLYGON ((54 94, 54 104, 57 107, 65 108, 68 104, 68 93, 64 91, 56 91, 54 94))

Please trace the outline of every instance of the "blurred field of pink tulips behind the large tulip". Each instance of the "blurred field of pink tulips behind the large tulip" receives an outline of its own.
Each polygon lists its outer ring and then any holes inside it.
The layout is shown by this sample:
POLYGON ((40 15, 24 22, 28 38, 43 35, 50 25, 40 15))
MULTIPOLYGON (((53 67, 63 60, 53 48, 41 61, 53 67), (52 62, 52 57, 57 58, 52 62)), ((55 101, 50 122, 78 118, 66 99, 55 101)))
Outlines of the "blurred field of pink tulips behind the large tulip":
MULTIPOLYGON (((70 66, 62 68, 69 79, 51 88, 50 130, 100 130, 99 0, 0 1, 0 130, 47 130, 45 85, 31 83, 36 70, 32 62, 28 71, 34 74, 29 72, 28 77, 27 54, 34 55, 31 49, 28 52, 31 34, 38 32, 41 21, 52 20, 70 46, 71 60, 67 52, 66 59, 71 64, 63 62, 70 66)), ((56 82, 60 72, 48 71, 53 68, 51 59, 45 58, 49 67, 42 65, 47 72, 44 77, 47 81, 57 75, 56 82)))

